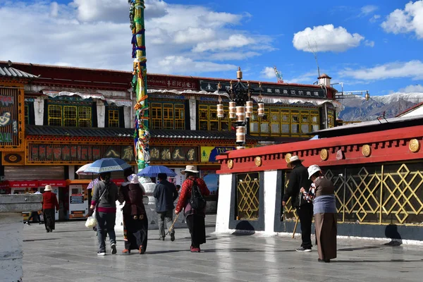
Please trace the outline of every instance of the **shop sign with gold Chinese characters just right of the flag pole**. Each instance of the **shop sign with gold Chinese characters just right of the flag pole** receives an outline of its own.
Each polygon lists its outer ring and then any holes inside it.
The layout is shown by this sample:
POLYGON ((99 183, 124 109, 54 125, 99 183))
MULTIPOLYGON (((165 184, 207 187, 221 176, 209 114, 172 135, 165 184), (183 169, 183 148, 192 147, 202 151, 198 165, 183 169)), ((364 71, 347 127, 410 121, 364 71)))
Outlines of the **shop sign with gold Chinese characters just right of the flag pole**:
POLYGON ((186 162, 197 161, 197 147, 150 147, 151 161, 186 162))

